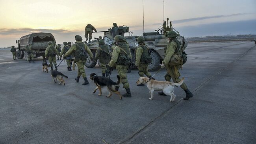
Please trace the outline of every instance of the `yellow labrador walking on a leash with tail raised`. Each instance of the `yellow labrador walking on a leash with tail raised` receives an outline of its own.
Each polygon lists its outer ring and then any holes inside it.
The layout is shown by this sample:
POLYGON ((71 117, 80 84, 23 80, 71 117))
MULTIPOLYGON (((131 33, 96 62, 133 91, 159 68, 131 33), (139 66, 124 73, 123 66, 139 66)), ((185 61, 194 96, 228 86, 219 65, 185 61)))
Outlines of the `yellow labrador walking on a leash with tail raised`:
POLYGON ((148 77, 140 77, 136 83, 137 85, 141 83, 143 84, 147 83, 149 94, 151 94, 151 97, 149 98, 149 100, 153 99, 154 91, 163 90, 163 93, 171 96, 170 102, 173 102, 175 101, 175 97, 176 97, 176 95, 173 94, 174 86, 182 85, 183 81, 184 81, 184 77, 179 83, 173 83, 169 81, 156 81, 154 79, 149 79, 148 77))

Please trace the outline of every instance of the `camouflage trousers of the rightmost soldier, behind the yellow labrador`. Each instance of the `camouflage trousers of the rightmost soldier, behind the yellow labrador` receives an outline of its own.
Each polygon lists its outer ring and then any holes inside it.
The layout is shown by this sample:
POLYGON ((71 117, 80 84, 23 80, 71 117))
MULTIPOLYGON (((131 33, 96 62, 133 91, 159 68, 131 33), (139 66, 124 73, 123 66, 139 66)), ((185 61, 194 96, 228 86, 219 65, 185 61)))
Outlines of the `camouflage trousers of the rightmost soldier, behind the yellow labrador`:
MULTIPOLYGON (((180 66, 169 66, 167 65, 166 67, 167 69, 167 74, 165 74, 165 81, 171 81, 171 79, 173 79, 174 83, 178 83, 181 81, 180 77, 180 66)), ((180 85, 180 87, 183 90, 187 90, 187 85, 183 82, 182 85, 180 85)))

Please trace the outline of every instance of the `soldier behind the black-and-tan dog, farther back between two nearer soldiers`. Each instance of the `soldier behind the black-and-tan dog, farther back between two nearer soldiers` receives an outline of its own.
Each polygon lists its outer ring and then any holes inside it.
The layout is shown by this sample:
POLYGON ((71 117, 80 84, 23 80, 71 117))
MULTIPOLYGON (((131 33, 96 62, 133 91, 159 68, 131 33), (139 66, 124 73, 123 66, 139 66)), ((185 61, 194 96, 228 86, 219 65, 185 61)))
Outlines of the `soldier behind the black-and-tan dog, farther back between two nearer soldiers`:
POLYGON ((108 64, 110 60, 109 45, 106 45, 104 40, 99 40, 98 43, 99 43, 99 47, 96 50, 96 56, 94 61, 97 61, 99 59, 102 76, 105 77, 105 74, 106 76, 108 76, 108 72, 106 72, 107 71, 106 64, 108 64))

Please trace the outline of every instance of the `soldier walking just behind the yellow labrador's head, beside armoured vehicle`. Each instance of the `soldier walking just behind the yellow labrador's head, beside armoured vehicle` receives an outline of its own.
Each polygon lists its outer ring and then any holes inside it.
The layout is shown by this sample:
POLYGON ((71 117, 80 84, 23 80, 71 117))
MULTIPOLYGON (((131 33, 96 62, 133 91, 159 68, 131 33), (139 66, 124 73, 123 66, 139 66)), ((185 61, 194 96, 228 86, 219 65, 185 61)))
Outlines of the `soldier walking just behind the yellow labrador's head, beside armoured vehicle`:
MULTIPOLYGON (((136 50, 136 60, 135 66, 139 68, 139 76, 143 77, 144 74, 150 79, 154 79, 151 74, 148 72, 148 64, 152 62, 152 58, 150 56, 149 48, 144 43, 145 39, 143 36, 139 36, 136 41, 139 44, 139 47, 136 50)), ((143 83, 137 86, 145 86, 143 83)))

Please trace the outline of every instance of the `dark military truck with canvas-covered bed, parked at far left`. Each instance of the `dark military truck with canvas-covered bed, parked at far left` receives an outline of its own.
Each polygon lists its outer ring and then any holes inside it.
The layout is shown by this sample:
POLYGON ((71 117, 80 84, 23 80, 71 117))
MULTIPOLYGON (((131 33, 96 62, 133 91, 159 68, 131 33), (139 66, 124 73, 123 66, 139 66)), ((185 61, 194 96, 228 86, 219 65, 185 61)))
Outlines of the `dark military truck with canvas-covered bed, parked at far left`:
POLYGON ((25 56, 25 59, 27 60, 28 54, 26 53, 26 46, 29 44, 32 45, 31 49, 34 58, 40 56, 45 58, 45 49, 48 47, 48 41, 52 41, 54 44, 56 43, 56 40, 51 33, 39 32, 22 36, 20 40, 16 40, 19 49, 16 53, 17 58, 22 59, 25 56))

